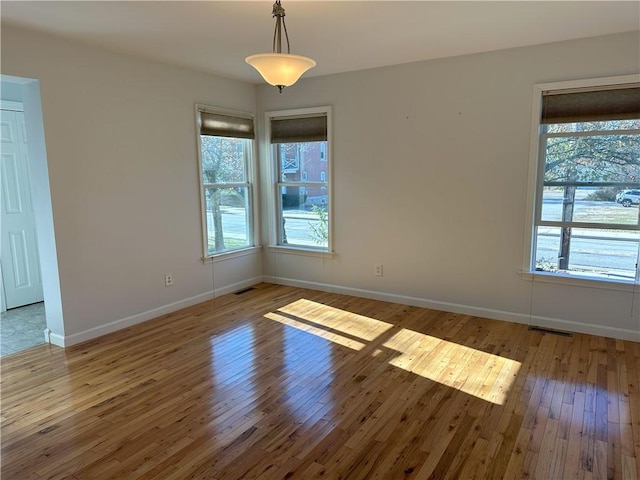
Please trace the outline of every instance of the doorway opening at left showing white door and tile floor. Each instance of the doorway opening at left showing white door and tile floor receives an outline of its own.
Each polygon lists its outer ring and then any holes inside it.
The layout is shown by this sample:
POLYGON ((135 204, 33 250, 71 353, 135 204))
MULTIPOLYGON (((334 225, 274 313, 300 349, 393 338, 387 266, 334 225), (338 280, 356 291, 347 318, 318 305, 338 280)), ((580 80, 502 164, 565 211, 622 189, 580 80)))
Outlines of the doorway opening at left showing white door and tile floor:
POLYGON ((40 84, 8 75, 0 82, 0 355, 7 355, 62 345, 64 328, 40 84))

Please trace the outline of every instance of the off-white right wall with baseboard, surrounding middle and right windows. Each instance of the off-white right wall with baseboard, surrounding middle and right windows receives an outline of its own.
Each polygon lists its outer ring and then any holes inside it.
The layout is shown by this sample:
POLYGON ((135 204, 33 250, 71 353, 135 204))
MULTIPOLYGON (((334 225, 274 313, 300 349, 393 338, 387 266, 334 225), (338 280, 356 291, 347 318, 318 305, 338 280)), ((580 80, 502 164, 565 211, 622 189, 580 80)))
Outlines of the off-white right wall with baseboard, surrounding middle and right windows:
POLYGON ((265 253, 265 278, 640 341, 640 288, 518 274, 533 85, 639 71, 635 32, 259 87, 261 121, 331 105, 334 126, 336 256, 265 253))

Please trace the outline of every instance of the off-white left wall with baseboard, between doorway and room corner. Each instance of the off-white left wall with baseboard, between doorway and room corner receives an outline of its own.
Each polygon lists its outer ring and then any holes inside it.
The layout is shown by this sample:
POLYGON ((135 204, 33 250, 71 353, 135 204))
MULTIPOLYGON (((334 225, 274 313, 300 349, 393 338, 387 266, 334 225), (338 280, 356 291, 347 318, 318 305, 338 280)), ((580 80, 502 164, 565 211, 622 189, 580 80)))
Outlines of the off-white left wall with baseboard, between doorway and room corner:
POLYGON ((40 81, 64 315, 54 341, 260 278, 259 254, 201 262, 194 114, 195 103, 254 111, 253 85, 4 25, 2 73, 40 81))

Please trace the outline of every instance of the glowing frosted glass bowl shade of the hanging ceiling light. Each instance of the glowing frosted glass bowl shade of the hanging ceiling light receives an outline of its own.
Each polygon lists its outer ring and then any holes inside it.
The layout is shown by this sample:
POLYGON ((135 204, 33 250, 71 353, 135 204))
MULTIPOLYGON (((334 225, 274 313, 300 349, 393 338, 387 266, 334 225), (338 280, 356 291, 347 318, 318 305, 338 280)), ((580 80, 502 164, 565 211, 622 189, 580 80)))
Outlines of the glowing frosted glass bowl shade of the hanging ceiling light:
POLYGON ((293 85, 304 72, 316 66, 315 60, 290 53, 258 53, 245 58, 245 62, 275 87, 293 85))

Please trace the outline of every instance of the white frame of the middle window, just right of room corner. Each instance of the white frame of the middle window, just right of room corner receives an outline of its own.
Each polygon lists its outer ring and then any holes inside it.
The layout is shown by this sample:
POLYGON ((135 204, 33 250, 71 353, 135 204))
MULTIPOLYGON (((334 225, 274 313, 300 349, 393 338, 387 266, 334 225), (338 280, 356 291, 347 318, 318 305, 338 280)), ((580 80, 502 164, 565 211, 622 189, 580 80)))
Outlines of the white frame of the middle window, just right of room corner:
MULTIPOLYGON (((268 170, 271 188, 269 189, 269 209, 270 209, 270 228, 269 228, 269 249, 272 251, 281 251, 283 253, 294 253, 307 256, 322 256, 333 257, 333 187, 332 187, 332 109, 330 106, 322 107, 310 107, 310 108, 297 108, 291 110, 276 110, 265 112, 265 135, 266 135, 266 152, 269 159, 268 170), (281 206, 280 195, 278 192, 281 188, 281 182, 278 178, 278 161, 274 153, 274 145, 271 144, 271 120, 278 118, 295 118, 305 116, 320 116, 326 115, 327 117, 327 148, 325 158, 326 161, 326 190, 327 190, 327 213, 329 217, 328 235, 326 247, 313 247, 304 245, 283 245, 280 244, 281 238, 281 206)), ((315 187, 317 182, 298 182, 298 186, 301 187, 315 187)), ((324 188, 324 187, 323 187, 324 188)))

